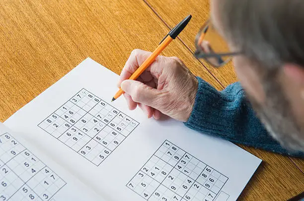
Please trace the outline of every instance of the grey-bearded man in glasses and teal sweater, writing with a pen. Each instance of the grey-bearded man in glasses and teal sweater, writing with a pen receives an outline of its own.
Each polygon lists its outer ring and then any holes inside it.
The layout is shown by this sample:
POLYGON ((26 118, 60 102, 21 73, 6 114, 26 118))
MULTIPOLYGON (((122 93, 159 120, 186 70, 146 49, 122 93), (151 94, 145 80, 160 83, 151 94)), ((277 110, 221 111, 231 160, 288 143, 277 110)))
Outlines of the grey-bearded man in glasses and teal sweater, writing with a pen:
POLYGON ((215 67, 232 57, 239 82, 219 92, 178 58, 164 56, 137 81, 126 80, 150 54, 134 50, 119 82, 129 108, 138 105, 149 118, 168 115, 234 143, 303 157, 303 9, 301 0, 212 0, 195 55, 215 67))

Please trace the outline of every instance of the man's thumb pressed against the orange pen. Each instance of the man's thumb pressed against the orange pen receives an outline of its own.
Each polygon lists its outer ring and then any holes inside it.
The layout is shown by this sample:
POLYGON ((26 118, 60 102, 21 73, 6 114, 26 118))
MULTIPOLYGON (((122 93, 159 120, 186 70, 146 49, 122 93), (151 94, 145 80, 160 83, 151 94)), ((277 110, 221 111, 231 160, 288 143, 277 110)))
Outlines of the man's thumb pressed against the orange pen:
POLYGON ((129 94, 133 101, 154 107, 155 99, 159 98, 160 92, 142 82, 125 80, 121 83, 121 89, 129 94))

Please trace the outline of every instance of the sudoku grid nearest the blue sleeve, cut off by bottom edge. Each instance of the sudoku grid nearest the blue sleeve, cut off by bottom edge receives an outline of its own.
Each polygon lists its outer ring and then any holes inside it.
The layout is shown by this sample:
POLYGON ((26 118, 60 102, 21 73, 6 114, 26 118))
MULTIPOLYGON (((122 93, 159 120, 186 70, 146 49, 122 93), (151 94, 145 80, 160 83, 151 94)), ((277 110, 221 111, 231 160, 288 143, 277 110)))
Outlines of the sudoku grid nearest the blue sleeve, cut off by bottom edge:
POLYGON ((126 186, 148 201, 213 201, 227 180, 166 140, 126 186))

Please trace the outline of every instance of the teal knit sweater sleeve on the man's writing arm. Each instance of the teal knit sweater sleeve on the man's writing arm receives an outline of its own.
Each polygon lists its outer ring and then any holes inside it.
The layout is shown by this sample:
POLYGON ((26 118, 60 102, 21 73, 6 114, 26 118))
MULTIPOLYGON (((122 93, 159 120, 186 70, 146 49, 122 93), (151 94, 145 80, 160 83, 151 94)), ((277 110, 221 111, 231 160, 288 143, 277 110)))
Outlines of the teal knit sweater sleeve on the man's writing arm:
POLYGON ((187 127, 233 143, 304 157, 304 152, 288 151, 269 135, 239 83, 219 92, 201 78, 197 79, 198 92, 191 116, 185 122, 187 127))

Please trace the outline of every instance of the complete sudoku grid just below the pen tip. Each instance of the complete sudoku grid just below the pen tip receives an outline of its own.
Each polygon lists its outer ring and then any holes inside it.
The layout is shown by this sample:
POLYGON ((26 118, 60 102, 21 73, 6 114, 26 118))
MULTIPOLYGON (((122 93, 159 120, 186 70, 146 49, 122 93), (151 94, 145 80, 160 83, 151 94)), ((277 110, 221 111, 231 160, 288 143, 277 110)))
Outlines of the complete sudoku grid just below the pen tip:
POLYGON ((98 166, 138 125, 81 89, 38 126, 98 166))

